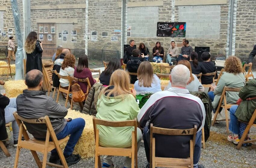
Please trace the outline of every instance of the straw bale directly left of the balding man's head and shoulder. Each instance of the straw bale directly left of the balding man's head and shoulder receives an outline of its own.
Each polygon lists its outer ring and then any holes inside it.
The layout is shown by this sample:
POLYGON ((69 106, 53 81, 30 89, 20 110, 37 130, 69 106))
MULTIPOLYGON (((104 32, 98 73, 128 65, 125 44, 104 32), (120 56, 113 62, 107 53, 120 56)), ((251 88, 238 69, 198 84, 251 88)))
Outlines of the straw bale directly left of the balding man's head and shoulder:
POLYGON ((16 98, 23 93, 24 89, 27 89, 24 80, 9 80, 4 85, 6 96, 9 98, 16 98))

